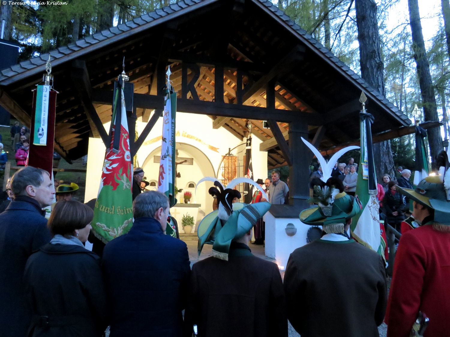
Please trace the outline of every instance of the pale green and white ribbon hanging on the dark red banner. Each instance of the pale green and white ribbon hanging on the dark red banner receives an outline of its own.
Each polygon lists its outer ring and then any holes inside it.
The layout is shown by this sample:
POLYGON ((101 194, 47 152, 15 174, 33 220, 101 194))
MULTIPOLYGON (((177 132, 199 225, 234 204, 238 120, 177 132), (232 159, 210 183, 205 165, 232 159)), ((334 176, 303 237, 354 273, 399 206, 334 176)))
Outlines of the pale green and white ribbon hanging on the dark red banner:
POLYGON ((47 145, 50 86, 38 85, 36 90, 36 111, 34 119, 33 144, 47 145))

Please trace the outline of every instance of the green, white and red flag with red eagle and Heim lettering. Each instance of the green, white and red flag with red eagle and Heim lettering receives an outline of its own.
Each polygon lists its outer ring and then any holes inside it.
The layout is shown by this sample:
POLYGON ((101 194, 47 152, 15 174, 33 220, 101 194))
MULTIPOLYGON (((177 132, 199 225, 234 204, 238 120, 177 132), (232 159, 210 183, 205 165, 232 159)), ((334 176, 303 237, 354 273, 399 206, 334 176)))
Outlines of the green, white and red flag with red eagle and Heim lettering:
POLYGON ((111 144, 106 150, 99 195, 91 223, 94 235, 104 243, 125 234, 133 226, 133 168, 123 86, 121 82, 121 87, 117 87, 114 95, 111 144))

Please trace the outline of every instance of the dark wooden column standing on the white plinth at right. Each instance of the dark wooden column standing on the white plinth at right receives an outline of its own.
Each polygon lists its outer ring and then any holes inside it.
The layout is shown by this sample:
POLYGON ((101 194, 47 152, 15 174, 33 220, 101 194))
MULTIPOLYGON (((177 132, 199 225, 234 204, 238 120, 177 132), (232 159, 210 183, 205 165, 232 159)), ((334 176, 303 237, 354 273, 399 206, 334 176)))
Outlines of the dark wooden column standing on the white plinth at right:
POLYGON ((307 162, 310 150, 300 137, 308 139, 306 121, 289 122, 289 150, 292 155, 292 163, 289 164, 289 204, 303 210, 309 207, 306 200, 310 198, 307 162))

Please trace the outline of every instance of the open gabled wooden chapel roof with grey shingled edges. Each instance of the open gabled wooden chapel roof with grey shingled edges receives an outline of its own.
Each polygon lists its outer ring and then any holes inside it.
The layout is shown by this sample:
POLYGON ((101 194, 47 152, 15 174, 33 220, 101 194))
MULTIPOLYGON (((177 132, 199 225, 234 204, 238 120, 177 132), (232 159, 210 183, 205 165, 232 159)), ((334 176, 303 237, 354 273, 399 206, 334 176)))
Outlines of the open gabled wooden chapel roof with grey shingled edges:
POLYGON ((146 122, 161 107, 158 69, 162 74, 170 65, 178 111, 210 115, 214 128, 223 126, 241 139, 250 121, 252 134, 264 141, 270 168, 285 159, 262 120, 278 121, 285 139, 289 121, 307 120, 310 138, 329 150, 359 139, 358 99, 364 91, 374 134, 410 124, 268 0, 180 1, 0 71, 0 104, 24 123, 30 121, 31 89, 49 55, 60 92, 55 148, 69 160, 87 153, 88 137, 104 134, 99 122, 111 118, 109 102, 123 57, 135 84, 137 117, 146 122), (223 102, 216 96, 220 77, 223 102))

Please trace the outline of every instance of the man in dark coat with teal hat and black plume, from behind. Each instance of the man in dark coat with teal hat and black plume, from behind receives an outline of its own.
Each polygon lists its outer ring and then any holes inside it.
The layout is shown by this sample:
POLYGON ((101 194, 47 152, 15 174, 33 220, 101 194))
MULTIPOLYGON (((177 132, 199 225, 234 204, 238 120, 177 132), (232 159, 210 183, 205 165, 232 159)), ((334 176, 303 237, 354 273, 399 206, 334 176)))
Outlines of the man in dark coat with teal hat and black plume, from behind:
MULTIPOLYGON (((222 202, 220 197, 218 200, 222 202)), ((287 337, 286 301, 278 267, 253 256, 248 248, 252 227, 270 204, 235 203, 233 208, 226 221, 217 212, 217 220, 208 215, 198 226, 200 250, 205 243, 213 244, 213 257, 192 267, 184 337, 192 335, 194 324, 202 337, 287 337), (232 240, 228 240, 230 233, 234 234, 232 240)))

